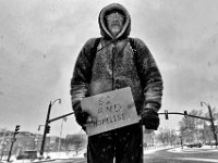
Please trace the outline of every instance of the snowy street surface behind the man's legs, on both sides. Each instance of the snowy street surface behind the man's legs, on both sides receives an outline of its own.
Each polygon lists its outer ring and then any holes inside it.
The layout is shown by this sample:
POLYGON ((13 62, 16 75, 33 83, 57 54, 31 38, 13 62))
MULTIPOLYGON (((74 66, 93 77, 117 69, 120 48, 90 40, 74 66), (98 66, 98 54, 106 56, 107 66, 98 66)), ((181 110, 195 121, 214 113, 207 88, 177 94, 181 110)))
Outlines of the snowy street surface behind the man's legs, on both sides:
MULTIPOLYGON (((218 163, 216 148, 168 148, 144 152, 144 163, 218 163)), ((56 160, 53 163, 87 163, 85 158, 56 160)))

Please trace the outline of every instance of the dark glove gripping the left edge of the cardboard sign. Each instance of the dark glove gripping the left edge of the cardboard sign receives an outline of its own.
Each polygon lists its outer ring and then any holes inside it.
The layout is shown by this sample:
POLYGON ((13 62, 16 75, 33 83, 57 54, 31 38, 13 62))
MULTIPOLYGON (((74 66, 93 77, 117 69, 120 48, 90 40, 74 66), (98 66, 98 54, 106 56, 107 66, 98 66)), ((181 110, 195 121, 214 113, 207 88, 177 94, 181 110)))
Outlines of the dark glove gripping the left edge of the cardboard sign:
POLYGON ((78 125, 82 126, 82 128, 85 130, 85 124, 88 120, 88 116, 90 116, 87 112, 83 112, 81 108, 81 102, 77 102, 73 105, 73 110, 75 112, 75 120, 78 123, 78 125))

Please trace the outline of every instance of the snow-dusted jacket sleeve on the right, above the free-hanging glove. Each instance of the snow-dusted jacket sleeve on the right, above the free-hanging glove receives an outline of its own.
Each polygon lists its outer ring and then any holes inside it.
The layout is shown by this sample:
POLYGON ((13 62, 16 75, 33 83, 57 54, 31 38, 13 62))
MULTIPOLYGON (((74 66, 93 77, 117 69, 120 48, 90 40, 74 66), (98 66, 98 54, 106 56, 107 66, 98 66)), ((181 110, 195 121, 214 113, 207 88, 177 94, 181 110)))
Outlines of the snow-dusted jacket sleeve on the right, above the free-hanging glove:
MULTIPOLYGON (((162 78, 149 49, 138 38, 135 39, 136 66, 144 88, 145 106, 158 112, 161 106, 162 78)), ((143 112, 143 111, 142 111, 143 112)))

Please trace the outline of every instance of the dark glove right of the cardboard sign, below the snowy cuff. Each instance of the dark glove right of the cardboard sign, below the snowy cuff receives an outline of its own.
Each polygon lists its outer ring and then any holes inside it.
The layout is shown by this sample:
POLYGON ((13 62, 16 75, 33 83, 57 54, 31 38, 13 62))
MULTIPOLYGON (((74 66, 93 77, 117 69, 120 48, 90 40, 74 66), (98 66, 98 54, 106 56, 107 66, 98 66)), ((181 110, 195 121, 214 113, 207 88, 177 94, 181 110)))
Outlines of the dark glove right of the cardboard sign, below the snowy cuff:
POLYGON ((145 125, 146 129, 157 130, 160 123, 158 113, 152 109, 145 109, 145 111, 142 113, 142 123, 145 125))

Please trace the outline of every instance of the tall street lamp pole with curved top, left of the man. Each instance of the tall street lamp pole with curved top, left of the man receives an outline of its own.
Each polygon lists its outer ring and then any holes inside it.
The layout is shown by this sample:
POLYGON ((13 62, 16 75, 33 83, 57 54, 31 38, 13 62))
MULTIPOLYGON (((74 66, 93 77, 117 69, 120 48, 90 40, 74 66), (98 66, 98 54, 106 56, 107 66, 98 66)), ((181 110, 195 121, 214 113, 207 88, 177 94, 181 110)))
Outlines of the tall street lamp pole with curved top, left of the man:
POLYGON ((49 106, 48 106, 48 113, 47 113, 46 123, 44 127, 44 136, 43 136, 43 142, 41 142, 41 148, 40 148, 40 156, 44 155, 44 147, 46 142, 46 134, 47 134, 47 128, 48 128, 47 126, 49 124, 50 111, 51 111, 51 106, 55 104, 56 101, 59 101, 59 103, 61 103, 61 99, 56 99, 52 103, 50 101, 49 106))

